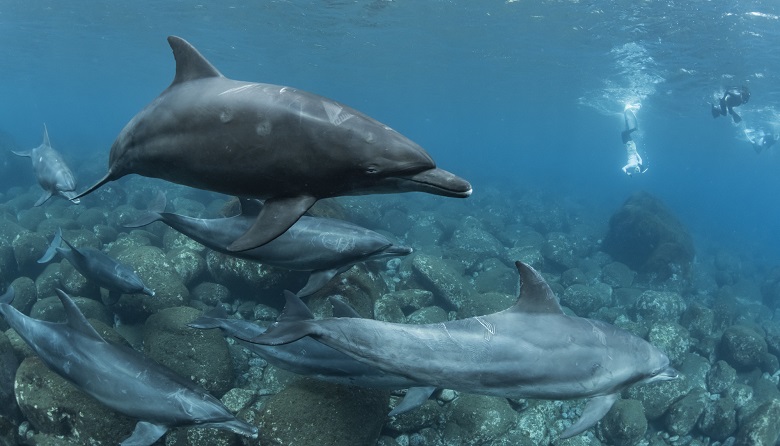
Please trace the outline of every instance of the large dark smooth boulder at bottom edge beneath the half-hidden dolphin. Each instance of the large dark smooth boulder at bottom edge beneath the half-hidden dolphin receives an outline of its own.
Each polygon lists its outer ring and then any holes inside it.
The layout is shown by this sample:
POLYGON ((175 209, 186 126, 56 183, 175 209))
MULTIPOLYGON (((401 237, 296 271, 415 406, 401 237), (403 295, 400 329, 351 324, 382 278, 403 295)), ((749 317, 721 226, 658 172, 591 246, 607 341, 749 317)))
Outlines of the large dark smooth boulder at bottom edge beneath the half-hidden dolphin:
POLYGON ((381 390, 298 380, 266 403, 260 416, 260 444, 376 444, 387 415, 388 399, 387 392, 381 390))

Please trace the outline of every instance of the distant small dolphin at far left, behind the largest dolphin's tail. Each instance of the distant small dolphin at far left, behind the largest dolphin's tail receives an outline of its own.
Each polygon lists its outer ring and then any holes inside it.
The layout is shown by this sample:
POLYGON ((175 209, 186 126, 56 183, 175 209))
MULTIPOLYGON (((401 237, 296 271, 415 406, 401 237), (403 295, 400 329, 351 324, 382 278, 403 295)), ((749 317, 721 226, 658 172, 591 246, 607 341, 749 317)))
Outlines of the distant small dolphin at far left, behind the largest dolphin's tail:
POLYGON ((46 124, 43 125, 43 143, 40 146, 13 154, 32 159, 35 178, 43 188, 43 195, 35 202, 35 206, 42 205, 52 195, 62 195, 74 203, 79 202, 76 197, 76 177, 65 164, 62 155, 51 147, 46 124))

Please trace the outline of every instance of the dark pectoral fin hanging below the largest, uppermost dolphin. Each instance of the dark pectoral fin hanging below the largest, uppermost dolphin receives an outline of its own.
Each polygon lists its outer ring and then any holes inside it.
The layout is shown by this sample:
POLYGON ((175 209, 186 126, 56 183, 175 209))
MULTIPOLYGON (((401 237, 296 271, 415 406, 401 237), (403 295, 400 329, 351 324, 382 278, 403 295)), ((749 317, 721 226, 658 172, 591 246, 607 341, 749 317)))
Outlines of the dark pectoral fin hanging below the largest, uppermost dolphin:
POLYGON ((228 251, 246 251, 265 245, 282 235, 317 201, 311 196, 270 198, 244 235, 228 246, 228 251))

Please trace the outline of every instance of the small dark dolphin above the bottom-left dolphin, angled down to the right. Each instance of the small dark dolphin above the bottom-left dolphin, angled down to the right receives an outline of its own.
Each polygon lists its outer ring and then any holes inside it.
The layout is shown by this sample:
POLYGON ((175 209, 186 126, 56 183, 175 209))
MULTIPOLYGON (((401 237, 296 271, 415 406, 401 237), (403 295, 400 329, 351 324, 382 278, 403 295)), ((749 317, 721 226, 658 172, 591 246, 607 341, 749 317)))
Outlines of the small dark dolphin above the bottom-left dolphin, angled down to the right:
POLYGON ((74 247, 62 238, 61 228, 57 229, 49 249, 46 250, 43 257, 38 259, 38 263, 50 261, 56 253, 60 253, 68 259, 82 276, 107 289, 110 304, 116 303, 123 293, 154 296, 154 291, 144 285, 141 278, 130 267, 117 262, 103 251, 94 248, 79 249, 74 247), (62 248, 60 246, 62 242, 65 242, 68 248, 62 248))

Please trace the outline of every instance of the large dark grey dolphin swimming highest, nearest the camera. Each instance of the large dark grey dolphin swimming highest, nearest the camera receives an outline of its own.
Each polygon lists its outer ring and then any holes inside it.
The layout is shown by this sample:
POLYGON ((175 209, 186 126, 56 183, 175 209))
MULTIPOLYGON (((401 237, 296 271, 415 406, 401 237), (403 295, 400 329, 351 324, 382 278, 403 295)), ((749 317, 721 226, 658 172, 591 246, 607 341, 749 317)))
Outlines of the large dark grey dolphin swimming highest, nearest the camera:
POLYGON ((173 83, 125 126, 108 173, 79 197, 135 173, 265 199, 254 225, 228 246, 243 251, 279 236, 320 198, 471 195, 422 147, 363 113, 294 88, 228 79, 187 41, 168 43, 173 83))

